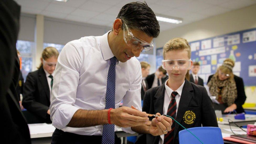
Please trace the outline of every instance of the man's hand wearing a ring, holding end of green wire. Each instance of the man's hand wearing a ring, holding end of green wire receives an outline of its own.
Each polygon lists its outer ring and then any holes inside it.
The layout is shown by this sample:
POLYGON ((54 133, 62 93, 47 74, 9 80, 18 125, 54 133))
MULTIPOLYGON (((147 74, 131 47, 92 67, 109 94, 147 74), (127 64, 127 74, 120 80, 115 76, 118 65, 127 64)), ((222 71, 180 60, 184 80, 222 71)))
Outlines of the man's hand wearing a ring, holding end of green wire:
MULTIPOLYGON (((157 115, 161 115, 160 113, 156 113, 157 115)), ((172 119, 167 116, 159 116, 153 118, 150 126, 150 134, 153 136, 158 136, 162 134, 167 134, 168 131, 171 130, 172 119)))

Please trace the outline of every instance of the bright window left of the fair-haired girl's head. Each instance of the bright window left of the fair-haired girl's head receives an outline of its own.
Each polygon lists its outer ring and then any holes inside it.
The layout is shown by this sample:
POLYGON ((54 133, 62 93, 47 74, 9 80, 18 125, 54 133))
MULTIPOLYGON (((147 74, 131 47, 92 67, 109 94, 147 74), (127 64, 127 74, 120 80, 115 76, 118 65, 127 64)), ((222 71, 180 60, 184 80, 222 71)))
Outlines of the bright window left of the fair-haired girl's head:
POLYGON ((17 40, 16 48, 19 50, 20 56, 22 57, 22 69, 20 71, 22 72, 25 81, 28 73, 32 71, 33 67, 34 42, 17 40))

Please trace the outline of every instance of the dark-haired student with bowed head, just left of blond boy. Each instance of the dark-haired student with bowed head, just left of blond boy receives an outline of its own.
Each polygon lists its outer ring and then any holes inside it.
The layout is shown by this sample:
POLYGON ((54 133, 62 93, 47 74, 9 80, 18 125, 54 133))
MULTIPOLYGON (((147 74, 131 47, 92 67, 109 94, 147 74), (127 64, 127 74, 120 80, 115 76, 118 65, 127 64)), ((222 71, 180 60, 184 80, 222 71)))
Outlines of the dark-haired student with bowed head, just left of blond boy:
POLYGON ((146 77, 148 88, 150 89, 153 87, 161 86, 168 79, 166 73, 166 70, 160 66, 155 73, 148 75, 146 77))

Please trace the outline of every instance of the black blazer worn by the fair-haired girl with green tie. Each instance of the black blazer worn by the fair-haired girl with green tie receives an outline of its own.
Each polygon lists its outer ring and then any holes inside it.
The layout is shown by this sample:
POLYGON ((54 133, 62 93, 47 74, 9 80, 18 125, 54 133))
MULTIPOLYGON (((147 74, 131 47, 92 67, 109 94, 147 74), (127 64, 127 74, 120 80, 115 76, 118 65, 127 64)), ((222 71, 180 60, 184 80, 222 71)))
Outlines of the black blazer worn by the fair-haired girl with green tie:
POLYGON ((23 89, 22 105, 41 122, 51 123, 47 111, 50 106, 50 89, 44 69, 30 72, 23 89))

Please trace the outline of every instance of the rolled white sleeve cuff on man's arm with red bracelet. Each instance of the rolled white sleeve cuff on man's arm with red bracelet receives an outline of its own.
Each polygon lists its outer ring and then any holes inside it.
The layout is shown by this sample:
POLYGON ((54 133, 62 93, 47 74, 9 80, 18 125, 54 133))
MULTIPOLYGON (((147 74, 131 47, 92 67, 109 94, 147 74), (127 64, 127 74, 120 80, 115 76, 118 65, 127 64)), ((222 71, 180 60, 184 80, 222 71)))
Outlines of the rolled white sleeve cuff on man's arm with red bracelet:
POLYGON ((52 125, 57 129, 66 128, 78 109, 76 106, 69 104, 60 105, 52 117, 52 125))

